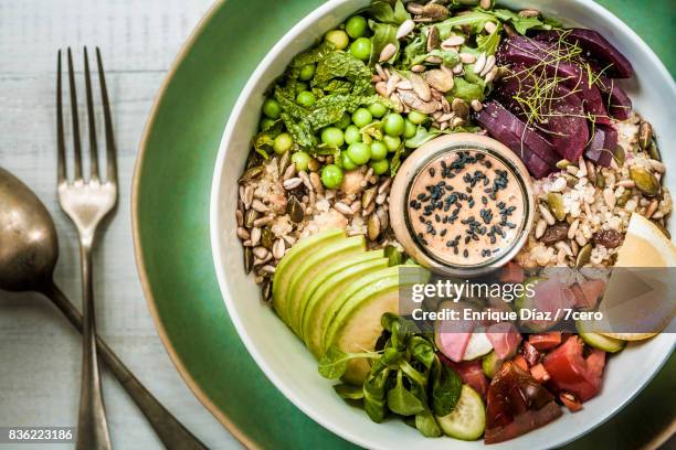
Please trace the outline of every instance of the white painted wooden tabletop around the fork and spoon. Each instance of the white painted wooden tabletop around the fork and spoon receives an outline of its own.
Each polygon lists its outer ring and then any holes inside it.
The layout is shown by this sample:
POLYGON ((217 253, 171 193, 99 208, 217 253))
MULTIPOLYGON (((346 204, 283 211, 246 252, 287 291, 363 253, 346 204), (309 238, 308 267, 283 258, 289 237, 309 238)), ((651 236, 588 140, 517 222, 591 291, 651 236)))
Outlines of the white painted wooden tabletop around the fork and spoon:
MULTIPOLYGON (((148 113, 177 51, 210 3, 0 1, 0 165, 31 186, 52 213, 61 250, 56 282, 81 304, 75 231, 59 208, 55 192, 56 51, 72 46, 82 68, 82 46, 98 45, 120 170, 119 208, 94 257, 98 331, 196 436, 210 448, 230 449, 241 446, 188 389, 158 338, 136 272, 130 221, 131 174, 148 113)), ((82 101, 82 78, 78 89, 82 101)), ((47 300, 0 292, 0 427, 75 426, 80 365, 80 336, 47 300)), ((104 396, 115 448, 162 448, 108 373, 104 373, 104 396)), ((20 446, 31 447, 72 444, 20 446)))

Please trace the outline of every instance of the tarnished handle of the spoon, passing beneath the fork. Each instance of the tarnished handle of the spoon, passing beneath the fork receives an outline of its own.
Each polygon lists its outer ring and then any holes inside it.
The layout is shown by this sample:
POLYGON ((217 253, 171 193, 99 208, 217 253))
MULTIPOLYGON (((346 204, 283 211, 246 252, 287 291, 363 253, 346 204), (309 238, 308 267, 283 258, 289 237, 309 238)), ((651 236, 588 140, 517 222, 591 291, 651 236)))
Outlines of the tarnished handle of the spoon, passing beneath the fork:
MULTIPOLYGON (((68 321, 82 332, 82 314, 56 285, 50 282, 41 292, 63 312, 68 321)), ((141 410, 150 426, 168 449, 207 450, 186 427, 183 427, 148 389, 134 376, 134 374, 117 357, 101 336, 96 336, 96 346, 103 361, 113 375, 119 381, 136 406, 141 410)))

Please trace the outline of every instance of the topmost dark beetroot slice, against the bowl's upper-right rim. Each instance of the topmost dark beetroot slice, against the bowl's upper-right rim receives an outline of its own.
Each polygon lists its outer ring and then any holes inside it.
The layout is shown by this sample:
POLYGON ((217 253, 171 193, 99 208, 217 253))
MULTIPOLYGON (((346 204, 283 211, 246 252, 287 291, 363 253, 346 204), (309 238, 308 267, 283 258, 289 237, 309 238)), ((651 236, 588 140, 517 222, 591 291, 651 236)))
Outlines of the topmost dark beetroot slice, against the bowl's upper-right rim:
POLYGON ((570 44, 579 45, 583 50, 583 58, 611 78, 631 78, 634 75, 632 63, 598 31, 587 29, 543 31, 538 33, 536 39, 547 42, 563 39, 570 44))

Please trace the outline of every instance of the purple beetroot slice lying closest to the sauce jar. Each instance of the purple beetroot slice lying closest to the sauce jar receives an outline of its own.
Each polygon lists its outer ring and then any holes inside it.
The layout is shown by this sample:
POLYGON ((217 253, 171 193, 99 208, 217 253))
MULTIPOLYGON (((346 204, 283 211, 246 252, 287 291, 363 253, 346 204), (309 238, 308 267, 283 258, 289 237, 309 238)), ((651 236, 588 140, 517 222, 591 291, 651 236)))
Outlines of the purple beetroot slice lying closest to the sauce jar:
POLYGON ((556 167, 559 158, 551 143, 497 101, 484 104, 476 120, 493 138, 518 154, 532 176, 546 176, 556 167))

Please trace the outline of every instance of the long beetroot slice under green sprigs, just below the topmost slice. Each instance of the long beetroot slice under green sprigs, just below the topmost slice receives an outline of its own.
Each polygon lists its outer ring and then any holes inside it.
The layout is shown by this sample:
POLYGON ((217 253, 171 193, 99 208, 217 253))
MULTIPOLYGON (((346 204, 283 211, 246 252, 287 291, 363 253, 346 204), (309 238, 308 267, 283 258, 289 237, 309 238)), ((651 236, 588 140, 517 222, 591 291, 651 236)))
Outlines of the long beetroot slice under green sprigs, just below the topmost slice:
POLYGON ((578 64, 566 60, 557 45, 526 36, 509 38, 498 50, 498 61, 513 66, 520 78, 560 78, 560 84, 574 92, 582 101, 584 113, 594 121, 608 124, 608 111, 599 88, 590 83, 589 76, 578 64))

